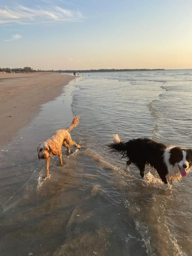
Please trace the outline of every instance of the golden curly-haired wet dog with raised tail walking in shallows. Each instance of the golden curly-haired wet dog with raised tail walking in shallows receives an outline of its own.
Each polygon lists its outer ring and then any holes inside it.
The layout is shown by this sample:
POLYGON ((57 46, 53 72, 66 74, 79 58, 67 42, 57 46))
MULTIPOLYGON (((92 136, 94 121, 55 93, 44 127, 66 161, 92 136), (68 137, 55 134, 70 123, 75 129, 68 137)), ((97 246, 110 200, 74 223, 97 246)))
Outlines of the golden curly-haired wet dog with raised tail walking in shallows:
POLYGON ((59 156, 60 165, 63 165, 62 162, 62 146, 67 148, 68 154, 70 154, 70 147, 71 145, 75 145, 77 148, 81 148, 80 145, 76 144, 75 141, 72 141, 69 132, 77 126, 79 123, 79 117, 73 117, 71 126, 69 126, 65 130, 57 130, 55 131, 47 141, 41 142, 37 147, 38 152, 38 159, 45 159, 46 160, 46 167, 47 167, 47 176, 49 177, 49 162, 51 156, 59 156))

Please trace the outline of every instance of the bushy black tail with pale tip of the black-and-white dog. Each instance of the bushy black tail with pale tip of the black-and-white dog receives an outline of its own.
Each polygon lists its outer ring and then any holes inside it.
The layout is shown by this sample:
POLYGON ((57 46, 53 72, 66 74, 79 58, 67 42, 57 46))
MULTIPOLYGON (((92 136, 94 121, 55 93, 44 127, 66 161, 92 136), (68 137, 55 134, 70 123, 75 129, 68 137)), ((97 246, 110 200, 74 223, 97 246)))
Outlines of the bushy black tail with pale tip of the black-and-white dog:
POLYGON ((121 141, 117 134, 113 135, 113 141, 108 145, 110 148, 109 151, 117 156, 121 156, 122 158, 127 157, 127 150, 125 142, 121 141))

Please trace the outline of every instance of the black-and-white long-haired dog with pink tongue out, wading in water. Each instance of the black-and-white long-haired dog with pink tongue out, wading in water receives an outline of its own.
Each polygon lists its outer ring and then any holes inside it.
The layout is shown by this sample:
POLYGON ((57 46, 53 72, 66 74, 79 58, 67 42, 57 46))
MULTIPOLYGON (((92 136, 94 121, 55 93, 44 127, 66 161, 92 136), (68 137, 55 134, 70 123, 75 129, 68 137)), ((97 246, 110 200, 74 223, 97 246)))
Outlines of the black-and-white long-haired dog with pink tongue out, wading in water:
POLYGON ((156 169, 164 183, 164 189, 169 186, 167 179, 181 180, 192 168, 192 149, 166 146, 147 138, 123 142, 117 134, 108 147, 113 154, 128 159, 125 170, 128 170, 131 163, 135 164, 142 178, 145 165, 156 169))

